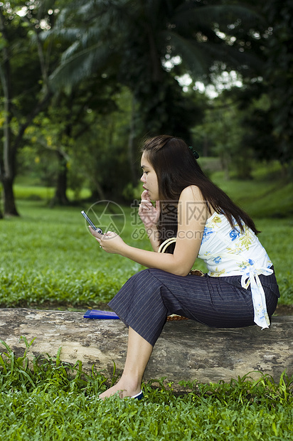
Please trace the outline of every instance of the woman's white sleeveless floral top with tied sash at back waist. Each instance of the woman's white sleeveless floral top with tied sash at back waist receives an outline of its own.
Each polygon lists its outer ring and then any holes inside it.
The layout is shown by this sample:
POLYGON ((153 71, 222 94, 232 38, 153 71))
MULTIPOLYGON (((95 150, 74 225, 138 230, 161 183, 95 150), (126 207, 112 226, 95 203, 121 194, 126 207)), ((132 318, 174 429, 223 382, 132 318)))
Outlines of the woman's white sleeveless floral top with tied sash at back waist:
POLYGON ((211 277, 242 275, 243 288, 251 287, 254 321, 262 329, 270 326, 265 292, 258 275, 270 275, 272 262, 255 233, 245 225, 244 233, 234 228, 223 214, 213 213, 206 221, 198 257, 211 277))

